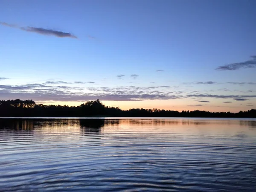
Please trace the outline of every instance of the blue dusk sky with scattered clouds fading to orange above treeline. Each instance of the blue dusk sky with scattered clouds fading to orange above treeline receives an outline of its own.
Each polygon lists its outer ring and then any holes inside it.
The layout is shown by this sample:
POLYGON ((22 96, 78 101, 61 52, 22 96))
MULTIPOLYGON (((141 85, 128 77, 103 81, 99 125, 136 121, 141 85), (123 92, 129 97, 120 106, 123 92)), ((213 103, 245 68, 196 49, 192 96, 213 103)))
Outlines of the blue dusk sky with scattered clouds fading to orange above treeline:
POLYGON ((0 100, 256 108, 255 0, 0 0, 0 100))

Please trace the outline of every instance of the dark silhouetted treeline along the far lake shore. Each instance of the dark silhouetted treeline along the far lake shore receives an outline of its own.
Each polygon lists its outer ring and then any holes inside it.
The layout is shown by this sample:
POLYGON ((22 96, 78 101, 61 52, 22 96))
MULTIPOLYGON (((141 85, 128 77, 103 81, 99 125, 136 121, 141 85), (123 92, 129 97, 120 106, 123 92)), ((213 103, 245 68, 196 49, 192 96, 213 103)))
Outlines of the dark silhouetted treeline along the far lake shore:
POLYGON ((7 100, 0 101, 0 116, 2 117, 86 117, 86 116, 148 116, 148 117, 253 117, 256 110, 231 112, 209 111, 171 111, 160 109, 130 109, 121 110, 119 107, 108 107, 97 99, 88 101, 80 106, 68 105, 43 105, 36 104, 33 100, 7 100))

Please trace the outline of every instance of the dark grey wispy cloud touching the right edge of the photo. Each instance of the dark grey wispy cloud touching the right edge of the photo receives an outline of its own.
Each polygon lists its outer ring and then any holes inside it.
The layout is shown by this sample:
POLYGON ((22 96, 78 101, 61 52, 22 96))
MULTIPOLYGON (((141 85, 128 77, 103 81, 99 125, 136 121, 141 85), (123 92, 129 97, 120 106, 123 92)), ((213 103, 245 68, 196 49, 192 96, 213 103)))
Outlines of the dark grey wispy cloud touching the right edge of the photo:
POLYGON ((251 56, 250 60, 240 62, 240 63, 232 63, 223 66, 219 66, 215 70, 239 70, 240 68, 254 68, 256 67, 256 55, 251 56))

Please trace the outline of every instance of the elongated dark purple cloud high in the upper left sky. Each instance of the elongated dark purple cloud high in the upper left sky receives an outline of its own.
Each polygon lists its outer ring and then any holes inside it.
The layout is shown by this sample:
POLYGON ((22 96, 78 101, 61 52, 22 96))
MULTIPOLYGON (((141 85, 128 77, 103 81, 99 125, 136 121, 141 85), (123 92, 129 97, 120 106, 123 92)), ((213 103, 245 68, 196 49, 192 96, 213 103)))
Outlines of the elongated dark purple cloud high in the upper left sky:
POLYGON ((26 32, 34 32, 34 33, 38 33, 41 35, 53 35, 53 36, 59 37, 59 38, 77 38, 75 35, 72 35, 71 33, 55 31, 52 29, 44 29, 44 28, 37 28, 37 27, 31 27, 31 26, 20 27, 20 26, 5 23, 5 22, 0 22, 0 25, 17 28, 17 29, 20 29, 20 30, 23 30, 26 32))

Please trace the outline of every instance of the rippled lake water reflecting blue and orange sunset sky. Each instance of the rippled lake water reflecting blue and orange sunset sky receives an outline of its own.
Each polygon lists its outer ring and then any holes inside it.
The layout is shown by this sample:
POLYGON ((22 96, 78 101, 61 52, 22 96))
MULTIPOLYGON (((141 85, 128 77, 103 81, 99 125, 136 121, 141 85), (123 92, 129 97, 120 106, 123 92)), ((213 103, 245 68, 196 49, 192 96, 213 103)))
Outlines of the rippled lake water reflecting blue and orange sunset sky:
POLYGON ((0 191, 256 191, 256 119, 0 119, 0 191))

